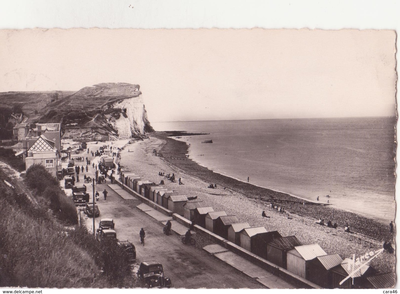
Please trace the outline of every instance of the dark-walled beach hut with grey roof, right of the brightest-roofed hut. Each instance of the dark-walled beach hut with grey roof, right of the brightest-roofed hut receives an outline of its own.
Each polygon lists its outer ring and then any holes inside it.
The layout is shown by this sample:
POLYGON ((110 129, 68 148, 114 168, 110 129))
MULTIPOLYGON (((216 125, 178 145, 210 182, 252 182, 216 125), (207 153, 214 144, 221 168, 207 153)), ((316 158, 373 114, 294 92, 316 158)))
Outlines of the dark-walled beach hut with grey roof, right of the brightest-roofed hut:
POLYGON ((332 285, 332 272, 330 270, 342 262, 343 259, 337 253, 317 256, 310 261, 309 272, 306 275, 307 280, 323 288, 336 288, 332 285))

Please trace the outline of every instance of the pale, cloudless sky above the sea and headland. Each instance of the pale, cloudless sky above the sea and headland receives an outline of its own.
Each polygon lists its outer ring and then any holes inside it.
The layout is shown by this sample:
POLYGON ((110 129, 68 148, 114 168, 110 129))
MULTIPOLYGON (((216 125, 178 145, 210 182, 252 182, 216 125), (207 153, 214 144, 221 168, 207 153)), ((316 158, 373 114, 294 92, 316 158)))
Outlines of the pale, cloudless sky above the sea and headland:
POLYGON ((150 123, 395 114, 393 30, 0 31, 0 92, 139 84, 150 123))

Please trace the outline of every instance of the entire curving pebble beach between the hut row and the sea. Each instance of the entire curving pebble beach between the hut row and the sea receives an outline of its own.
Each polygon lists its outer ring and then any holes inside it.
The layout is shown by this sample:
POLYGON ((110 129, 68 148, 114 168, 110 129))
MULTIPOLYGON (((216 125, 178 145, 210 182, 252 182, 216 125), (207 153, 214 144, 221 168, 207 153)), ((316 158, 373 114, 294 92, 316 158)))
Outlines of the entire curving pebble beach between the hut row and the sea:
MULTIPOLYGON (((212 206, 214 211, 224 210, 228 215, 236 215, 240 222, 265 226, 268 231, 277 230, 282 236, 295 235, 302 244, 319 244, 327 254, 338 253, 343 259, 379 250, 384 241, 394 240, 388 224, 214 173, 186 157, 186 143, 167 135, 157 132, 150 134, 149 139, 125 145, 120 151, 121 167, 154 183, 164 180, 166 187, 188 197, 197 196, 192 201, 203 201, 204 206, 212 206), (156 156, 154 149, 163 157, 156 156), (184 184, 171 183, 158 175, 160 171, 175 173, 176 179, 182 177, 184 184), (217 188, 208 188, 210 183, 217 188), (285 212, 270 208, 271 202, 282 206, 285 212), (270 218, 262 217, 262 211, 270 218), (338 228, 318 225, 318 219, 324 219, 325 223, 331 220, 338 228), (344 232, 346 223, 350 224, 352 234, 344 232)), ((394 254, 383 252, 370 265, 383 273, 393 271, 395 262, 394 254)))

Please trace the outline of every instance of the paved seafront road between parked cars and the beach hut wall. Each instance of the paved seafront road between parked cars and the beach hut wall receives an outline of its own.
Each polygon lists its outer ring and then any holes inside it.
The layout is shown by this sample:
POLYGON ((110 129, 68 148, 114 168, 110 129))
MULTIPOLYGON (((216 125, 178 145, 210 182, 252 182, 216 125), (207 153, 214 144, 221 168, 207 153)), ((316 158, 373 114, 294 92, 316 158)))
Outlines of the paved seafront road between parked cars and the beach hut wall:
MULTIPOLYGON (((82 155, 86 157, 90 154, 82 153, 74 157, 82 155)), ((88 158, 92 162, 96 162, 93 157, 88 156, 88 158)), ((90 166, 89 171, 81 173, 80 177, 83 179, 84 174, 93 177, 94 172, 95 170, 90 166)), ((107 184, 110 184, 109 180, 107 184)), ((92 186, 90 184, 87 184, 87 186, 90 190, 88 193, 92 197, 92 186)), ((140 262, 157 260, 162 263, 164 274, 171 278, 174 288, 265 288, 254 279, 249 278, 225 262, 221 262, 204 250, 182 244, 180 236, 176 234, 164 235, 160 222, 136 208, 136 205, 140 204, 141 201, 124 200, 106 184, 96 185, 95 189, 100 193, 100 201, 97 202, 100 217, 95 219, 95 228, 98 228, 98 223, 102 217, 114 219, 117 238, 129 240, 136 247, 135 272, 140 262), (102 194, 104 189, 108 191, 106 201, 102 194), (140 228, 144 228, 146 232, 145 246, 140 244, 140 228)), ((66 192, 70 192, 70 189, 66 192)), ((92 218, 85 221, 83 211, 81 216, 82 220, 86 222, 86 226, 93 230, 92 218)))

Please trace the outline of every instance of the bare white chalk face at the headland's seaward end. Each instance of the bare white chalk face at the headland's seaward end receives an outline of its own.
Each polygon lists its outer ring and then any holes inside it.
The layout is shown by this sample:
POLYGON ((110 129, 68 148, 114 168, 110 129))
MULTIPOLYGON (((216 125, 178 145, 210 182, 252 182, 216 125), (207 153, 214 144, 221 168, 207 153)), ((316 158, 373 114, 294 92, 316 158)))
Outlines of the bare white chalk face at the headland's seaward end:
POLYGON ((119 119, 115 120, 115 123, 113 123, 114 128, 118 130, 118 135, 121 139, 130 138, 132 135, 144 135, 145 110, 142 95, 124 99, 123 101, 113 105, 112 108, 119 108, 125 112, 121 114, 119 119), (127 117, 125 117, 124 114, 127 117))

